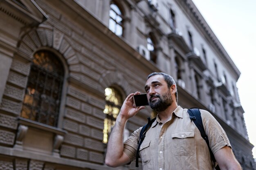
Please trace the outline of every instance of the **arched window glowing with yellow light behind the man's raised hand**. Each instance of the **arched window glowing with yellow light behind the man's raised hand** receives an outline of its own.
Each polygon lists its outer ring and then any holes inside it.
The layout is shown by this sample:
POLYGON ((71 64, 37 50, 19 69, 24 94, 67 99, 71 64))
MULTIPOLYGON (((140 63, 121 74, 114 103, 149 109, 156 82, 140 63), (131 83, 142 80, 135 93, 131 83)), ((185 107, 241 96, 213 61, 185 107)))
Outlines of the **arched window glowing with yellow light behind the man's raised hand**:
POLYGON ((106 144, 108 142, 108 134, 110 134, 121 109, 122 96, 119 91, 112 87, 105 89, 105 96, 106 105, 103 112, 106 114, 106 118, 104 120, 103 143, 106 144))

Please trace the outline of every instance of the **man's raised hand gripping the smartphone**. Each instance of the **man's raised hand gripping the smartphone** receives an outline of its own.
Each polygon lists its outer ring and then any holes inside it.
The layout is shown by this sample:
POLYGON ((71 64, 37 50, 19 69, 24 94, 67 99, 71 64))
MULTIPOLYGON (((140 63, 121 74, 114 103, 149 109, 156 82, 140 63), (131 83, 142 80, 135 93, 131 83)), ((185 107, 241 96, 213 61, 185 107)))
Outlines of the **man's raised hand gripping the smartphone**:
POLYGON ((121 118, 128 120, 129 118, 135 116, 141 109, 145 109, 144 106, 136 107, 134 104, 133 95, 138 95, 138 94, 140 94, 140 92, 129 94, 126 100, 124 100, 124 103, 119 113, 119 116, 121 118))

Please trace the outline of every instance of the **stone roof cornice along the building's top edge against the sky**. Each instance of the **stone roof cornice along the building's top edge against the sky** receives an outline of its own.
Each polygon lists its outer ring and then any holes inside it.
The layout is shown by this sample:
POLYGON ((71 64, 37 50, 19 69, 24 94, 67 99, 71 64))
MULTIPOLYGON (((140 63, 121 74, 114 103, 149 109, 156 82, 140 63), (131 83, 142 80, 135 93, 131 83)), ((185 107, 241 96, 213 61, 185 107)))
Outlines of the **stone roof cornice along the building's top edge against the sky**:
MULTIPOLYGON (((232 59, 229 57, 229 54, 227 51, 224 49, 216 35, 213 33, 211 30, 210 26, 207 24, 207 22, 204 20, 204 17, 202 14, 199 12, 195 4, 192 2, 192 0, 175 0, 177 4, 183 9, 184 13, 189 15, 189 17, 192 17, 192 19, 195 19, 198 24, 200 24, 202 28, 202 33, 206 35, 206 37, 209 38, 211 43, 214 45, 213 47, 219 52, 220 56, 223 56, 223 59, 227 62, 227 64, 232 68, 236 75, 236 80, 238 80, 240 76, 240 71, 232 61, 232 59), (188 10, 189 9, 189 10, 188 10)), ((196 24, 195 24, 196 25, 196 24)))

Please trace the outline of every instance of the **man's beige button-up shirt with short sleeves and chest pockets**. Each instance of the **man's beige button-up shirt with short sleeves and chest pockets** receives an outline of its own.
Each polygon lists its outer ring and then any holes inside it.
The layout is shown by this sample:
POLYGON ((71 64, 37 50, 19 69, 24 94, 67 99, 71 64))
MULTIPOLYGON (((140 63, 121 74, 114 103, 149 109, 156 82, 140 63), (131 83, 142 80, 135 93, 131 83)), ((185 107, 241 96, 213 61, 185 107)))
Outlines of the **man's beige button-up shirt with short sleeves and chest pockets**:
MULTIPOLYGON (((214 169, 208 146, 190 120, 187 110, 178 106, 165 124, 157 115, 139 148, 144 170, 214 169)), ((213 154, 224 146, 230 146, 229 139, 217 120, 208 111, 200 112, 213 154)), ((124 142, 124 153, 131 161, 136 157, 141 128, 124 142)))

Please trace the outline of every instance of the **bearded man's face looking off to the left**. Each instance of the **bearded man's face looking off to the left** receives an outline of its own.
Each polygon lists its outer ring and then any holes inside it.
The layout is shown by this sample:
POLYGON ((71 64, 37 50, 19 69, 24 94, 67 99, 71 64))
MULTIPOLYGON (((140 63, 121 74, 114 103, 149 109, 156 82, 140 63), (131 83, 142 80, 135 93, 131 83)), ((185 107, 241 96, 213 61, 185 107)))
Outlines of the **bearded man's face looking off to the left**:
POLYGON ((166 110, 173 103, 171 89, 168 88, 162 75, 148 78, 145 90, 147 92, 148 104, 157 112, 166 110))

